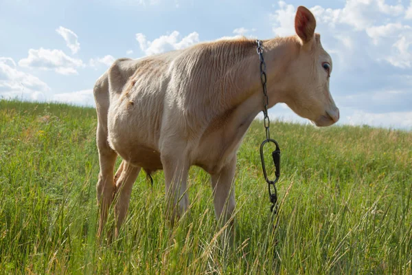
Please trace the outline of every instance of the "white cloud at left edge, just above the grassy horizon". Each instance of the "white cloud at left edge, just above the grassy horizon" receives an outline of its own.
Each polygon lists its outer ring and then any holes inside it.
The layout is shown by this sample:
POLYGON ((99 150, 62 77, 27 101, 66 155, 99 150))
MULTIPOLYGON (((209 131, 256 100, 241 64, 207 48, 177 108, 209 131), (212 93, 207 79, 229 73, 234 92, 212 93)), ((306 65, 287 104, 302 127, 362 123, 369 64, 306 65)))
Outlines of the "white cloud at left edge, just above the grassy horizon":
POLYGON ((12 58, 0 57, 0 96, 36 100, 50 87, 32 74, 19 71, 12 58))

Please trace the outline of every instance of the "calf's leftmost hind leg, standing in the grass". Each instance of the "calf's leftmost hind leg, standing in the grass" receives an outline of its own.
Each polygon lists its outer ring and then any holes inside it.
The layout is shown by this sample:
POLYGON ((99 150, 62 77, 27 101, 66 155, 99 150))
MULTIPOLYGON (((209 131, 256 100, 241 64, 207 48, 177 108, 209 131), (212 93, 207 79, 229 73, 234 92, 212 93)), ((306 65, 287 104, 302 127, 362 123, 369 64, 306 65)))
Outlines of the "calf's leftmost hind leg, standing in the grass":
POLYGON ((100 124, 98 124, 97 144, 99 149, 100 173, 96 190, 98 193, 98 203, 100 205, 98 236, 101 236, 104 224, 106 223, 108 208, 113 201, 113 193, 115 192, 113 173, 117 153, 108 145, 107 133, 100 124))

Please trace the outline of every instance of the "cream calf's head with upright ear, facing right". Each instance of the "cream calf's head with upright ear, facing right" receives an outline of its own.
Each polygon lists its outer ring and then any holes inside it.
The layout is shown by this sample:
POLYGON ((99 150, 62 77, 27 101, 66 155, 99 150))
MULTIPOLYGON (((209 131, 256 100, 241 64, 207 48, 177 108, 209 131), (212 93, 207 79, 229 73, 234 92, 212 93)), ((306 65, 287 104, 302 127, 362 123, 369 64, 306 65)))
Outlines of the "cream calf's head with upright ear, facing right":
POLYGON ((317 126, 329 126, 339 120, 339 109, 329 91, 332 58, 323 50, 320 35, 314 34, 315 28, 312 12, 305 7, 297 8, 295 30, 299 49, 286 72, 292 79, 292 89, 285 102, 317 126))

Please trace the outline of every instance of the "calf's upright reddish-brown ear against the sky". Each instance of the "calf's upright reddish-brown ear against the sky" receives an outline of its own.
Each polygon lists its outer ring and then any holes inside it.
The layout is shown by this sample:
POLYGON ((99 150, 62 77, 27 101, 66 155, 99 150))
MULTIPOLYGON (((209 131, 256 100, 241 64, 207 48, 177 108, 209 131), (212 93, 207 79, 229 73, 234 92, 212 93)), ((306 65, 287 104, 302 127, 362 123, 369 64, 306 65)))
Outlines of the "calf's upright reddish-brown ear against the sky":
POLYGON ((314 19, 312 12, 304 6, 299 6, 295 17, 295 30, 296 34, 300 37, 304 44, 313 39, 315 28, 316 19, 314 19))

